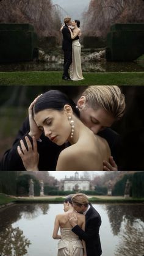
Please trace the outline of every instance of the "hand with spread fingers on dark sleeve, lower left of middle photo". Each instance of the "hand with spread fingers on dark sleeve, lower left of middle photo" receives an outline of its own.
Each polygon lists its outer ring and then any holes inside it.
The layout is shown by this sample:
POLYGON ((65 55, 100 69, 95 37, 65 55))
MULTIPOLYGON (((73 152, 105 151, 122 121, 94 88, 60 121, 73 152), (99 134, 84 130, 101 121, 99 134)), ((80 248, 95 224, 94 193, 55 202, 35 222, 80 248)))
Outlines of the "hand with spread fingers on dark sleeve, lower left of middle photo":
POLYGON ((33 148, 31 141, 29 141, 29 138, 26 136, 26 144, 27 148, 24 145, 23 140, 21 139, 20 146, 17 147, 18 154, 20 155, 23 165, 26 170, 31 171, 31 170, 38 170, 38 161, 39 161, 39 154, 37 152, 37 141, 35 137, 32 137, 32 142, 33 142, 33 148))

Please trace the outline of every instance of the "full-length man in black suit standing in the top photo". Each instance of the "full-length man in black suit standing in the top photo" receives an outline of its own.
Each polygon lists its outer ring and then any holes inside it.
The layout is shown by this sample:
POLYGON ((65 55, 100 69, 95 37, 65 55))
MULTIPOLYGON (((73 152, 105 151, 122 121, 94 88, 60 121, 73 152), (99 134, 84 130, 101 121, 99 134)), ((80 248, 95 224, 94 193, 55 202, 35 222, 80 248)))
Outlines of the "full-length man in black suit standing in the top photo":
POLYGON ((71 18, 69 17, 65 18, 64 23, 65 25, 63 26, 63 29, 62 29, 62 34, 63 34, 62 49, 64 52, 62 79, 70 80, 70 76, 68 75, 68 69, 72 62, 72 39, 71 39, 71 34, 68 29, 68 26, 71 25, 71 18))

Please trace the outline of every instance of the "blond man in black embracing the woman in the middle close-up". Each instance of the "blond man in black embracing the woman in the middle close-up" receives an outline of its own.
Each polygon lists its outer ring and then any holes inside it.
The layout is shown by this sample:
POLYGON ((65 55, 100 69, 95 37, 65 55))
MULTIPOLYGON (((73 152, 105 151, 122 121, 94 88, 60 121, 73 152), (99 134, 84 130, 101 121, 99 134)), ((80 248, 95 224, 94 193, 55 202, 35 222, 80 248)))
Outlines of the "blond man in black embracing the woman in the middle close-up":
MULTIPOLYGON (((115 102, 115 106, 113 106, 112 109, 116 109, 117 117, 121 117, 123 115, 125 105, 122 97, 123 95, 117 86, 88 87, 82 93, 82 96, 77 101, 77 107, 79 108, 79 115, 82 122, 86 126, 88 126, 88 128, 90 128, 93 131, 93 133, 98 133, 101 137, 104 137, 104 139, 107 140, 110 146, 112 156, 117 163, 119 155, 118 149, 120 145, 120 136, 112 129, 107 128, 107 126, 111 126, 112 123, 115 121, 115 117, 111 116, 109 112, 106 112, 106 110, 104 109, 104 105, 96 106, 96 109, 94 109, 93 106, 94 103, 96 105, 99 105, 102 100, 107 101, 107 106, 109 100, 111 102, 111 97, 115 98, 116 95, 119 95, 117 96, 119 100, 113 101, 115 102), (109 95, 110 97, 108 97, 109 95), (90 96, 93 96, 92 99, 90 98, 90 96)), ((110 105, 110 103, 108 105, 110 105)), ((20 131, 18 132, 18 135, 16 136, 16 139, 13 142, 12 148, 4 153, 4 156, 1 160, 1 170, 25 170, 23 162, 21 161, 21 158, 18 155, 17 146, 20 145, 21 139, 23 139, 23 141, 25 142, 25 136, 28 136, 29 139, 32 141, 32 136, 34 136, 34 128, 35 127, 32 126, 32 122, 30 128, 29 119, 27 118, 26 121, 23 123, 23 126, 21 127, 20 131)), ((44 133, 42 133, 40 139, 37 140, 37 148, 38 153, 40 155, 38 169, 56 170, 56 164, 59 154, 67 146, 68 145, 58 146, 54 144, 48 139, 48 137, 45 136, 44 133)), ((107 165, 108 169, 117 170, 117 166, 112 159, 110 163, 107 163, 107 165)))

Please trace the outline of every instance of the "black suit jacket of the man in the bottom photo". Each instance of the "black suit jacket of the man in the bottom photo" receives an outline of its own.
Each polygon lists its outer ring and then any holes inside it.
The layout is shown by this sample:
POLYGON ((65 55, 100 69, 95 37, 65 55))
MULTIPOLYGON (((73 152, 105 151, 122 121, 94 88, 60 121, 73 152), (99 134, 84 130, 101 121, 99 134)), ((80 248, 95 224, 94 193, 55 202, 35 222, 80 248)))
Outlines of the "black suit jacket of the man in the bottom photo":
POLYGON ((72 231, 85 241, 87 256, 99 256, 102 254, 101 241, 99 238, 99 227, 101 216, 90 203, 90 209, 85 215, 85 231, 79 225, 73 227, 72 231))

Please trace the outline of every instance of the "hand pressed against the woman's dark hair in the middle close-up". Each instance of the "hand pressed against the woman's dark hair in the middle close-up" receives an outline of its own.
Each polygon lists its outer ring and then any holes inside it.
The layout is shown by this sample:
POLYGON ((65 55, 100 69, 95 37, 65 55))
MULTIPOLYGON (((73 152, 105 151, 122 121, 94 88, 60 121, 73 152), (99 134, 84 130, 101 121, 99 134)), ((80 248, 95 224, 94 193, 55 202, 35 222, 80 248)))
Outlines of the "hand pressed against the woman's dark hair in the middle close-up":
POLYGON ((30 132, 29 136, 35 137, 35 139, 39 139, 41 136, 42 131, 38 128, 37 123, 35 123, 35 120, 32 116, 32 109, 34 108, 34 104, 40 98, 41 95, 38 95, 37 98, 35 98, 34 101, 32 101, 31 105, 29 106, 29 125, 30 125, 30 132))

